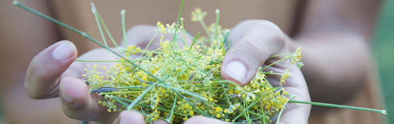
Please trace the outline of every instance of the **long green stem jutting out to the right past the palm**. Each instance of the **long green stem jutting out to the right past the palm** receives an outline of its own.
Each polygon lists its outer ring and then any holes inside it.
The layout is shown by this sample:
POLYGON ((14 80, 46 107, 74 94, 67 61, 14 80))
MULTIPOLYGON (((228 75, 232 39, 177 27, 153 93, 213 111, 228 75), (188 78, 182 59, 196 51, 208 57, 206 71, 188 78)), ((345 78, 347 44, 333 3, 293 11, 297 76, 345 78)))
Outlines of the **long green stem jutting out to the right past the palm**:
POLYGON ((336 108, 371 111, 371 112, 377 112, 377 113, 382 113, 382 114, 387 115, 386 110, 376 110, 376 109, 368 109, 368 108, 361 108, 361 107, 343 106, 343 105, 335 105, 335 104, 328 104, 328 103, 317 103, 317 102, 304 102, 304 101, 296 101, 296 100, 289 100, 289 102, 310 104, 310 105, 316 105, 316 106, 328 106, 328 107, 336 107, 336 108))

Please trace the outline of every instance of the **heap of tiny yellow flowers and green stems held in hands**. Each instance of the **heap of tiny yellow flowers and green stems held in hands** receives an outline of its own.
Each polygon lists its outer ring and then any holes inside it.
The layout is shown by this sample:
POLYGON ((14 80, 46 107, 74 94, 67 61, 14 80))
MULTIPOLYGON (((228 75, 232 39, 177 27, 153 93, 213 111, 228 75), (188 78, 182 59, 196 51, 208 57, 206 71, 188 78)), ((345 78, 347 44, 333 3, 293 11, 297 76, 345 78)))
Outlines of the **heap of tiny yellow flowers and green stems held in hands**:
MULTIPOLYGON (((206 12, 196 9, 192 14, 192 20, 203 19, 206 12)), ((225 54, 222 40, 228 30, 221 31, 221 26, 215 26, 211 24, 209 32, 218 32, 218 35, 205 39, 210 41, 209 46, 194 44, 180 48, 177 42, 163 40, 161 35, 160 48, 156 50, 141 50, 135 45, 122 49, 126 59, 142 54, 141 58, 130 58, 135 64, 120 59, 110 67, 88 65, 82 76, 88 78, 90 92, 104 96, 98 104, 108 107, 108 112, 134 110, 145 117, 146 123, 165 120, 181 124, 199 115, 233 123, 251 119, 261 124, 272 123, 269 117, 284 108, 287 92, 282 87, 273 87, 266 74, 274 73, 262 72, 261 68, 250 83, 242 87, 223 80, 220 75, 225 54)), ((175 23, 167 24, 167 32, 161 22, 157 27, 160 34, 179 33, 182 29, 175 23)), ((302 63, 300 49, 287 58, 297 65, 302 63)), ((289 74, 288 69, 281 73, 280 83, 285 83, 289 74)))

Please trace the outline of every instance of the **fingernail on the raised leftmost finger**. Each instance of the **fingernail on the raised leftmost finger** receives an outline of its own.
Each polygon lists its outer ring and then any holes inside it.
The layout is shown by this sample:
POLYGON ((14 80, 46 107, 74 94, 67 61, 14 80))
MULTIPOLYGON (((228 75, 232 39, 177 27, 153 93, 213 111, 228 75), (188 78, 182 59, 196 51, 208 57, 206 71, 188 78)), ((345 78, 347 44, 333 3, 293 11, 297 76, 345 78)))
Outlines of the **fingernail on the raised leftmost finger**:
POLYGON ((55 50, 52 51, 53 58, 57 60, 65 60, 74 55, 74 46, 68 42, 62 42, 58 45, 55 50))

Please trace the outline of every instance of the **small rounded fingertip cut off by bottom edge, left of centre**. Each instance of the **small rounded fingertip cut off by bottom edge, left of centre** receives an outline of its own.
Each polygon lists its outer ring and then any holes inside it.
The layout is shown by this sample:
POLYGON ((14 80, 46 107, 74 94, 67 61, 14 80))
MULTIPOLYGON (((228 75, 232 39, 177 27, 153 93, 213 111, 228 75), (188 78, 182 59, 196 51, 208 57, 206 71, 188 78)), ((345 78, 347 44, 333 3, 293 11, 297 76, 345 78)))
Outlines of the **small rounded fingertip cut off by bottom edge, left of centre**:
MULTIPOLYGON (((144 117, 135 111, 123 111, 113 124, 145 124, 144 117)), ((154 124, 154 123, 153 123, 154 124)), ((164 124, 164 123, 156 123, 164 124)))

